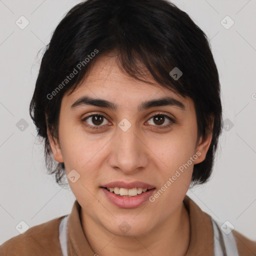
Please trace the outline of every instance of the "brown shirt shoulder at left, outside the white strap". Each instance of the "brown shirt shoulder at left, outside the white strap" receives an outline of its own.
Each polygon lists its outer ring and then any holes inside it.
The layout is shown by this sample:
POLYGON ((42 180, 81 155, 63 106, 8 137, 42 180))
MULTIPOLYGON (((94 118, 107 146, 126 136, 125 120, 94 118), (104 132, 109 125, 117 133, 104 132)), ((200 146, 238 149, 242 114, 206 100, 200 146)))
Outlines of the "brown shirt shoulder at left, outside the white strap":
POLYGON ((1 256, 61 255, 59 223, 64 216, 28 228, 0 245, 1 256))

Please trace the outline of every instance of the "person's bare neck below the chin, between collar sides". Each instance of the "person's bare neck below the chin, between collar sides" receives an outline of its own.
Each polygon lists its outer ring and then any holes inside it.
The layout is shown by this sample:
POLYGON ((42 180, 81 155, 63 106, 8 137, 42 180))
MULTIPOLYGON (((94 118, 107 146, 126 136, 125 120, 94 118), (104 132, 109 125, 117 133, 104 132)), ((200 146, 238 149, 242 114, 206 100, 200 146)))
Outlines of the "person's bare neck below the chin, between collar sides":
POLYGON ((150 233, 118 236, 95 222, 81 209, 84 234, 94 253, 109 255, 185 255, 190 237, 189 215, 183 204, 150 233), (85 224, 86 223, 86 224, 85 224))

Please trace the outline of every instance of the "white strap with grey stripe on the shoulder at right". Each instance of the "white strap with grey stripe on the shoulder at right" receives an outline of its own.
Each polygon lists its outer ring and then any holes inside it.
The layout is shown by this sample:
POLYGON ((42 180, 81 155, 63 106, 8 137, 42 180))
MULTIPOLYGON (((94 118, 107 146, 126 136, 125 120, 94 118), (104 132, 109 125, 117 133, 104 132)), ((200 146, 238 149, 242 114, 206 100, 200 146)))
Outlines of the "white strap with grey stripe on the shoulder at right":
POLYGON ((222 223, 211 218, 213 226, 214 255, 215 256, 239 256, 236 242, 231 229, 226 226, 226 234, 220 228, 222 223))

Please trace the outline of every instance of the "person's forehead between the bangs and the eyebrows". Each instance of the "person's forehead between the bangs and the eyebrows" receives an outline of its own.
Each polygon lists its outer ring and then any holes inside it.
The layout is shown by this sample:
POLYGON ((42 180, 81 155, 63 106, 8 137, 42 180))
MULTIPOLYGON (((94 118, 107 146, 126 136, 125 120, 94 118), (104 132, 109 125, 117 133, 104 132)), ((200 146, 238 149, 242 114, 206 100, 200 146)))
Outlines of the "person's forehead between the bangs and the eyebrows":
POLYGON ((141 105, 141 102, 162 97, 173 98, 181 102, 185 108, 190 108, 192 100, 184 98, 171 89, 158 84, 149 71, 144 71, 142 79, 150 82, 139 81, 120 70, 117 58, 112 56, 101 56, 93 63, 87 75, 71 94, 63 98, 71 106, 75 100, 82 96, 90 98, 107 99, 115 102, 117 108, 127 105, 141 105))

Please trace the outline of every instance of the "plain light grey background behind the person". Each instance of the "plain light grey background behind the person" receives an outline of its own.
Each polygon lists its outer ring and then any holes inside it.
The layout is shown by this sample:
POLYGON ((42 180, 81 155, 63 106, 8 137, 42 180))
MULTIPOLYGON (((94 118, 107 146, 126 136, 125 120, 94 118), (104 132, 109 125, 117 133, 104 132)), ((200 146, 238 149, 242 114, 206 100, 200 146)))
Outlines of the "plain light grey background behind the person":
MULTIPOLYGON (((42 51, 37 53, 78 2, 0 0, 0 244, 18 234, 15 226, 21 220, 33 226, 67 214, 75 200, 70 189, 59 187, 45 173, 43 147, 28 105, 42 51), (21 15, 29 21, 24 29, 15 24, 21 15), (28 127, 20 126, 21 118, 28 127)), ((256 0, 173 2, 210 39, 222 86, 223 119, 228 124, 210 181, 187 194, 213 218, 228 220, 255 240, 256 0), (234 21, 228 29, 222 22, 229 26, 231 20, 221 22, 226 15, 234 21)))

